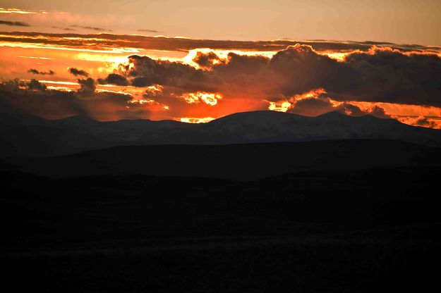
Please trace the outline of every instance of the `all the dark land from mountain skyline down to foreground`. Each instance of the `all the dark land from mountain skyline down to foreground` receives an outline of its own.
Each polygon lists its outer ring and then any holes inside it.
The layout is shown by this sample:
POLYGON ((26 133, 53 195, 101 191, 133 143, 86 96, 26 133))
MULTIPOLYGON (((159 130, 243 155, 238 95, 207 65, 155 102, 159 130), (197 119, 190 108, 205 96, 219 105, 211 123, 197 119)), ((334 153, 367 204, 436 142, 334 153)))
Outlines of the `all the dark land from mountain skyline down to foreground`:
POLYGON ((437 130, 339 113, 204 125, 11 115, 0 116, 4 287, 440 290, 441 151, 412 143, 438 145, 437 130))

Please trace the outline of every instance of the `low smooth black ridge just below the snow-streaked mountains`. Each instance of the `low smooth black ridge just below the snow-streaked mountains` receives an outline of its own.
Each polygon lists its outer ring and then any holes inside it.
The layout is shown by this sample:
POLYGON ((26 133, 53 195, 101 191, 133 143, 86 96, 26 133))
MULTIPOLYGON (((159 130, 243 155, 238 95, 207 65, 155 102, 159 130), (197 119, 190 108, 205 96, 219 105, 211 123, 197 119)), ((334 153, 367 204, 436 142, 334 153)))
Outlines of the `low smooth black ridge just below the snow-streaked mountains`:
POLYGON ((441 166, 439 148, 347 139, 229 145, 118 146, 47 158, 9 158, 4 169, 51 177, 145 174, 255 180, 304 170, 441 166))

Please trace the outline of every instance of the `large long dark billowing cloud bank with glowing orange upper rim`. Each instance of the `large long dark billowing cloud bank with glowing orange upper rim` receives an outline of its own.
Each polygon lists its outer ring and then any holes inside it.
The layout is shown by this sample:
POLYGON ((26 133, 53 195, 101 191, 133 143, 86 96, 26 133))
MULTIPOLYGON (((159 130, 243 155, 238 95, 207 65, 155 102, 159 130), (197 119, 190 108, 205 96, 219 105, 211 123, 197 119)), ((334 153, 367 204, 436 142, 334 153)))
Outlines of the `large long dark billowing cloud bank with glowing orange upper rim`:
POLYGON ((322 88, 337 101, 441 106, 441 58, 435 54, 374 48, 349 54, 339 62, 297 44, 272 58, 229 53, 226 61, 212 63, 217 58, 215 54, 198 54, 195 61, 209 69, 198 70, 135 55, 123 69, 137 87, 158 84, 188 91, 240 91, 264 99, 289 98, 322 88))

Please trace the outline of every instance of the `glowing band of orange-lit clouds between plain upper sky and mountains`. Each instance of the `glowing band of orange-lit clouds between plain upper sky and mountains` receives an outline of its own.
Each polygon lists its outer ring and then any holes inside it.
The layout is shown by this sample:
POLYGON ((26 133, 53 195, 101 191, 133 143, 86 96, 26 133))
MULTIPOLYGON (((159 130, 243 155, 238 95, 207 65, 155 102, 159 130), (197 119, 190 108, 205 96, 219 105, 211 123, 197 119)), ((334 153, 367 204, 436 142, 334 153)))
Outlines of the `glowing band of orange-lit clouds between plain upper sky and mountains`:
POLYGON ((8 38, 0 46, 5 56, 0 67, 8 68, 4 80, 20 77, 23 82, 23 96, 13 102, 47 118, 83 113, 99 120, 207 122, 238 111, 270 109, 306 116, 342 111, 438 127, 436 117, 441 116, 440 80, 434 78, 441 76, 441 59, 434 47, 319 41, 286 47, 292 41, 34 32, 1 32, 2 37, 8 38), (198 49, 202 45, 205 49, 198 49), (130 55, 130 50, 123 53, 126 48, 138 53, 179 50, 180 55, 130 55), (71 75, 67 68, 82 74, 71 75), (37 80, 42 85, 30 83, 35 72, 49 70, 56 74, 37 80), (57 99, 58 92, 63 93, 57 99), (30 100, 41 101, 40 108, 30 100), (44 113, 45 107, 50 111, 44 113))

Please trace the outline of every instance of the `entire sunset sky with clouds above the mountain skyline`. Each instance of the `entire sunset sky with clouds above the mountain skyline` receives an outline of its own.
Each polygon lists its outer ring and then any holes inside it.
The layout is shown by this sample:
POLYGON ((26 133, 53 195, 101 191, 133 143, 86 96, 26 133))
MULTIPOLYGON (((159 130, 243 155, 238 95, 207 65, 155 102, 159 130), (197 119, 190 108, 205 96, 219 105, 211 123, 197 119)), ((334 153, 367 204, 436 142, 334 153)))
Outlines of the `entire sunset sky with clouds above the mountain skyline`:
POLYGON ((269 109, 441 128, 440 0, 0 0, 0 103, 58 119, 269 109))

